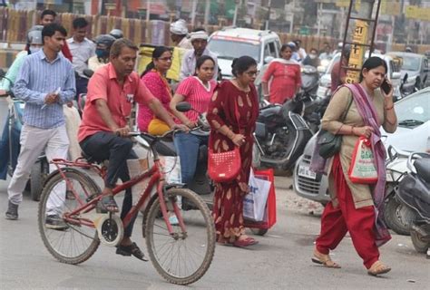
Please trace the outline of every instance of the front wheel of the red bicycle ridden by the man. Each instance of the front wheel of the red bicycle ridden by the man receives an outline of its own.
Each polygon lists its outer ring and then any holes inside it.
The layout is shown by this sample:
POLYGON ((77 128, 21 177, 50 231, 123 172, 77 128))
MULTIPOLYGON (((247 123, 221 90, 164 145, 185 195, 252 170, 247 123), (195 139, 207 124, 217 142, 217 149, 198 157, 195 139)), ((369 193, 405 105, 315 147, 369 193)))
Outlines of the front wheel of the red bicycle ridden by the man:
POLYGON ((160 200, 157 198, 149 208, 143 230, 146 246, 153 266, 167 281, 189 285, 199 280, 209 269, 215 252, 215 226, 210 210, 203 200, 190 189, 169 189, 166 193, 167 208, 187 199, 196 210, 181 210, 185 232, 179 225, 172 226, 170 235, 161 216, 160 200))

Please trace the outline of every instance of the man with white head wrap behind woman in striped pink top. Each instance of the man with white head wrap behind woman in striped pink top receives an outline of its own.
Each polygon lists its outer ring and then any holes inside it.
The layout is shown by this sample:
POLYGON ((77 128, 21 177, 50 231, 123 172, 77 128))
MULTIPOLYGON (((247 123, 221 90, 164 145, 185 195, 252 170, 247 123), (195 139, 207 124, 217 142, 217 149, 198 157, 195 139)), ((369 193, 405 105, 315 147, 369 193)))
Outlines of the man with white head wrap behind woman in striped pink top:
POLYGON ((210 50, 206 48, 206 45, 208 45, 208 38, 209 35, 203 30, 194 31, 190 34, 191 44, 194 49, 188 51, 183 56, 180 81, 196 73, 196 61, 201 55, 209 55, 211 58, 213 58, 215 61, 215 72, 213 74, 213 78, 214 80, 217 79, 218 60, 217 56, 213 53, 210 53, 210 50))

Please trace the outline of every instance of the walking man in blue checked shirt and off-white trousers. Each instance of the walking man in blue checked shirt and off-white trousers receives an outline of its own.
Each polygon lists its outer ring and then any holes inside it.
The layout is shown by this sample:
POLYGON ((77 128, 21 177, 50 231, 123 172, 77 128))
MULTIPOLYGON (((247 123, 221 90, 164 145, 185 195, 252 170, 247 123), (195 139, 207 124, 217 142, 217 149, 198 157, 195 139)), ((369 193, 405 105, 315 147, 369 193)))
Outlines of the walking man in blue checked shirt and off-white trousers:
MULTIPOLYGON (((21 151, 14 176, 9 184, 7 219, 18 218, 18 205, 30 170, 44 151, 48 160, 67 159, 69 140, 65 130, 63 105, 76 94, 72 63, 60 54, 66 30, 60 24, 48 24, 42 30, 44 46, 25 57, 13 92, 25 102, 24 126, 21 131, 21 151)), ((53 165, 51 165, 53 167, 53 165)), ((50 168, 53 170, 54 168, 50 168)), ((46 227, 61 229, 64 222, 58 213, 64 205, 63 194, 48 200, 46 227)))

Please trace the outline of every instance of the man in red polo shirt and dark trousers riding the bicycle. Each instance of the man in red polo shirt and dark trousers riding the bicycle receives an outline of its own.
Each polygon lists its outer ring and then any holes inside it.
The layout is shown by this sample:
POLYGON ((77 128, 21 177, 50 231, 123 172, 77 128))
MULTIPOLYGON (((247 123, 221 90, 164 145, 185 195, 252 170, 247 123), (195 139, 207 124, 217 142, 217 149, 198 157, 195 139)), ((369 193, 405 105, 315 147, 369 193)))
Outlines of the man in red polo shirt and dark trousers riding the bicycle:
MULTIPOLYGON (((137 159, 132 150, 132 140, 127 138, 127 126, 134 102, 148 105, 154 114, 171 128, 185 129, 176 125, 161 102, 155 98, 133 72, 138 47, 125 38, 112 44, 111 63, 98 69, 88 83, 87 102, 83 109, 83 120, 78 132, 83 152, 93 160, 109 160, 101 208, 116 212, 118 207, 112 196, 117 179, 130 180, 126 160, 137 159)), ((132 208, 132 190, 126 189, 122 202, 121 218, 132 208)), ((116 254, 136 256, 147 261, 141 249, 132 242, 132 225, 124 230, 124 237, 116 254)))

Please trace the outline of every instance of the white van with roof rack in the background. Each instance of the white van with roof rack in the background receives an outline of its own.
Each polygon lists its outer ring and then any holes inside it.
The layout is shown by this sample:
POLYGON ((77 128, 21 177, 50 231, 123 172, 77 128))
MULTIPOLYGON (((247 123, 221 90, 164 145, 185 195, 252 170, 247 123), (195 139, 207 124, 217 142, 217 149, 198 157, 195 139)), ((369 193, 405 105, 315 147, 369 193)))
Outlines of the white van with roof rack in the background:
POLYGON ((281 43, 278 34, 269 30, 225 27, 210 35, 208 49, 218 57, 223 79, 230 79, 233 59, 249 55, 258 63, 258 70, 279 57, 281 43))

